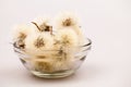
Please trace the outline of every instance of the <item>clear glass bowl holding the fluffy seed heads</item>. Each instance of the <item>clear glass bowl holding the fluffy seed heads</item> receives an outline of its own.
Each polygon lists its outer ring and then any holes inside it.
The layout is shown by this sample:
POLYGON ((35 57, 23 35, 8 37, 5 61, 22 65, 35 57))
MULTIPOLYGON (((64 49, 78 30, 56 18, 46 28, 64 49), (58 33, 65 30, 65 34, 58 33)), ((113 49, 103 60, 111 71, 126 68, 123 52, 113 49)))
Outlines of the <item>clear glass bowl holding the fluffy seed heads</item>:
POLYGON ((19 55, 23 65, 34 75, 45 78, 66 77, 73 74, 85 60, 91 50, 92 41, 85 39, 82 46, 75 48, 66 48, 63 50, 44 50, 50 53, 50 57, 31 55, 24 50, 17 49, 14 45, 14 52, 19 55), (51 53, 60 53, 53 54, 51 53))

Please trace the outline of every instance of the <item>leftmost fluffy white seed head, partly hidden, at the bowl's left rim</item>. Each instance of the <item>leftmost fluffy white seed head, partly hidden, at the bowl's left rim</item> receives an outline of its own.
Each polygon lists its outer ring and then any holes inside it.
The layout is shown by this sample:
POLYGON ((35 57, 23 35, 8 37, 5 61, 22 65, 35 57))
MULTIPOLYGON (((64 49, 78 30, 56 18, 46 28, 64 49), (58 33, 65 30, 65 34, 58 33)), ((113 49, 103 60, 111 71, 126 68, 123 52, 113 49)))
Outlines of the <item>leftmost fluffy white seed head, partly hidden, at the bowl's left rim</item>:
POLYGON ((13 28, 13 41, 14 46, 20 49, 25 47, 25 38, 34 30, 29 24, 21 24, 13 28))

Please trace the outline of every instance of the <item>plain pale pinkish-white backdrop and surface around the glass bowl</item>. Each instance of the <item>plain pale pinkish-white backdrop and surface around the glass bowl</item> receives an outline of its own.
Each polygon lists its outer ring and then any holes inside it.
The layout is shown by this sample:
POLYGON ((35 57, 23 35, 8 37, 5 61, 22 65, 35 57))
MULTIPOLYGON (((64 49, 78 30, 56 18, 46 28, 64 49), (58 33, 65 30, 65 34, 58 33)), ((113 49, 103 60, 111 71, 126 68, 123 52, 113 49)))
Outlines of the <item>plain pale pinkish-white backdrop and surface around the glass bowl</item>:
POLYGON ((0 87, 131 87, 130 0, 0 0, 0 87), (32 76, 14 54, 11 27, 37 15, 75 11, 93 41, 75 75, 61 79, 32 76))

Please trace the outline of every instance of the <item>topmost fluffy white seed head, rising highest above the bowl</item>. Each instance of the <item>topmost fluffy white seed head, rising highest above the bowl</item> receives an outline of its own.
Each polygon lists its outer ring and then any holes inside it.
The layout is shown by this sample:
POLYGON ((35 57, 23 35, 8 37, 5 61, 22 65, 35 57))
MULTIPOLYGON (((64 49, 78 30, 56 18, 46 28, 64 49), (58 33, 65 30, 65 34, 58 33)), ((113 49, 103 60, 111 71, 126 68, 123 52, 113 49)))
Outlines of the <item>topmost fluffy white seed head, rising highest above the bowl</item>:
POLYGON ((71 12, 60 13, 55 21, 55 27, 62 29, 64 27, 72 28, 78 35, 82 35, 79 18, 71 12))

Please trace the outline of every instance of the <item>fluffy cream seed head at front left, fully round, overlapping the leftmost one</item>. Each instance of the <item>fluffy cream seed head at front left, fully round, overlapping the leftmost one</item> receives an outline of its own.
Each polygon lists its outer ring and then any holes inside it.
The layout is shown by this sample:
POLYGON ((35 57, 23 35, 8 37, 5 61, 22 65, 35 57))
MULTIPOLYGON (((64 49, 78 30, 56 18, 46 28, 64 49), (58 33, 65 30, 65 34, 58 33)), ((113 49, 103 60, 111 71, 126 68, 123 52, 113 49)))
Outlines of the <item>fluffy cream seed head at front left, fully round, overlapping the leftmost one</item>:
POLYGON ((53 39, 50 34, 33 34, 25 39, 25 50, 29 54, 44 55, 49 54, 52 48, 53 39))

